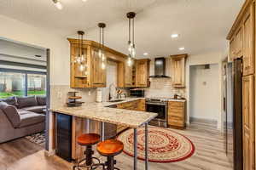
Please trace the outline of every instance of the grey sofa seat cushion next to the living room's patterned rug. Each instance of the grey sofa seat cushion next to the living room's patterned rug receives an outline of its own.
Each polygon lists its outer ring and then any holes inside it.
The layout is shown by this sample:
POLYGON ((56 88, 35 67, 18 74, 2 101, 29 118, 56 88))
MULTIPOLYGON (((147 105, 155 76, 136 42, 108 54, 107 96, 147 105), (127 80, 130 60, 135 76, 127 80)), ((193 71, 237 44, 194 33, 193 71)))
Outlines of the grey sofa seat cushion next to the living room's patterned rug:
POLYGON ((45 116, 42 114, 34 113, 31 111, 26 111, 20 115, 20 126, 19 127, 27 127, 34 124, 38 124, 40 122, 45 122, 45 116))

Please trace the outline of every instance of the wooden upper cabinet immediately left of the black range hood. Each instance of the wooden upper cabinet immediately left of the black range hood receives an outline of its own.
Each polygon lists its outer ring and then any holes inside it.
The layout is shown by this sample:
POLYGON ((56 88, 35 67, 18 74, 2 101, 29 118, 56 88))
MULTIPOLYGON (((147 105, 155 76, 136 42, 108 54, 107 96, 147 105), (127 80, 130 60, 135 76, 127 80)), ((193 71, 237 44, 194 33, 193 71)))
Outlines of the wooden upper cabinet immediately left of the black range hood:
POLYGON ((137 59, 136 61, 136 86, 149 86, 149 62, 150 59, 137 59))

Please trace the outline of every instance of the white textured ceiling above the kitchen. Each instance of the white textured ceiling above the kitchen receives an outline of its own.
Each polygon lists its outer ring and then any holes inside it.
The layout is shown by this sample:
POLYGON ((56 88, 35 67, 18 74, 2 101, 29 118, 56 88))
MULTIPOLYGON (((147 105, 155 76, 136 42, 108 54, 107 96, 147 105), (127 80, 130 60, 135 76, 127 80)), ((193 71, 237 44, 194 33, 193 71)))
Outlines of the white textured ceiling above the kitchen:
POLYGON ((78 30, 98 40, 96 24, 107 23, 106 44, 126 53, 128 22, 125 13, 136 11, 137 57, 198 54, 224 50, 225 37, 244 0, 0 0, 0 14, 27 24, 74 37, 78 30), (172 33, 180 34, 173 40, 172 33), (185 47, 183 52, 177 48, 185 47))

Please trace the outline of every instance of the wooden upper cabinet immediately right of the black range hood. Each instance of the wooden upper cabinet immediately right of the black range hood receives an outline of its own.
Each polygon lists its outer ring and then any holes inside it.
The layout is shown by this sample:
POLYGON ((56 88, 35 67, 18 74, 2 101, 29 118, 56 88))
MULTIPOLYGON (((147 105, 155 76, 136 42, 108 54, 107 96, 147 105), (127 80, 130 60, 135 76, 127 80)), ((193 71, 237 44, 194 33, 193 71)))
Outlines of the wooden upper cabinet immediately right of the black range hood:
POLYGON ((174 88, 185 88, 185 64, 187 54, 171 55, 172 85, 174 88))

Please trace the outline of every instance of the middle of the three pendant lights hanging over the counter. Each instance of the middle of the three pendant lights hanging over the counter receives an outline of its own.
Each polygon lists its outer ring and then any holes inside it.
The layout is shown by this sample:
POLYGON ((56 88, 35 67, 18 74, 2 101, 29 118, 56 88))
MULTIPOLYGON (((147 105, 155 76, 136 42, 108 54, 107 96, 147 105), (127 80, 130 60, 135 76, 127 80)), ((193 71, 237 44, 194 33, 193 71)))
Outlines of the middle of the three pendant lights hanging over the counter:
POLYGON ((100 28, 100 48, 99 48, 99 53, 98 56, 102 60, 102 69, 106 68, 106 55, 104 51, 104 28, 106 27, 105 23, 99 23, 98 24, 100 28))

